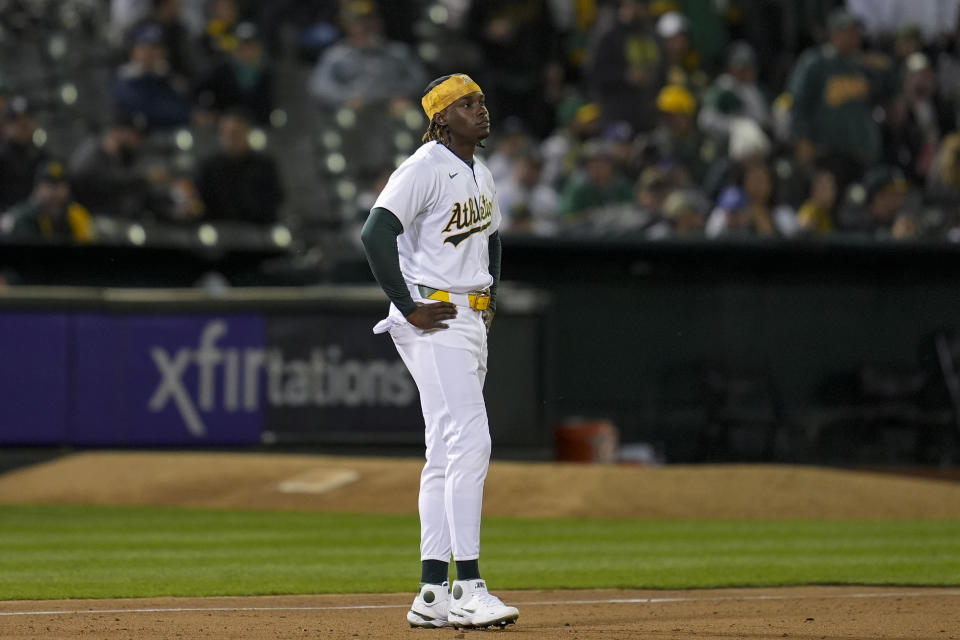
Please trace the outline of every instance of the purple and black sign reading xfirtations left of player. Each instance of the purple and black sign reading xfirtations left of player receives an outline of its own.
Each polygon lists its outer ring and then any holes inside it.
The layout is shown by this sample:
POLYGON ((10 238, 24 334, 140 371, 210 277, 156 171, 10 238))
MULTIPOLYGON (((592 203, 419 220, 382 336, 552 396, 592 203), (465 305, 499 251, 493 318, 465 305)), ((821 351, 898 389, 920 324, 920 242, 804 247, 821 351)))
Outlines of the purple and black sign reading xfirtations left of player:
POLYGON ((416 386, 366 315, 77 315, 71 440, 422 438, 416 386))

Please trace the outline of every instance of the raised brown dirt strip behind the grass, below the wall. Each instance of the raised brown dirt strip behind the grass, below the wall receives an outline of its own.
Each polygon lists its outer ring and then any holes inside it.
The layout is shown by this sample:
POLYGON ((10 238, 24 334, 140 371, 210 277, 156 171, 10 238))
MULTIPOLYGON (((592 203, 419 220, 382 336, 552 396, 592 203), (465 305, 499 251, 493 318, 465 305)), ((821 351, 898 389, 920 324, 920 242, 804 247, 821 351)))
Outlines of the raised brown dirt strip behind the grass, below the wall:
MULTIPOLYGON (((417 512, 419 459, 104 452, 0 475, 0 502, 417 512)), ((796 466, 493 462, 484 513, 572 518, 960 518, 960 483, 796 466)))

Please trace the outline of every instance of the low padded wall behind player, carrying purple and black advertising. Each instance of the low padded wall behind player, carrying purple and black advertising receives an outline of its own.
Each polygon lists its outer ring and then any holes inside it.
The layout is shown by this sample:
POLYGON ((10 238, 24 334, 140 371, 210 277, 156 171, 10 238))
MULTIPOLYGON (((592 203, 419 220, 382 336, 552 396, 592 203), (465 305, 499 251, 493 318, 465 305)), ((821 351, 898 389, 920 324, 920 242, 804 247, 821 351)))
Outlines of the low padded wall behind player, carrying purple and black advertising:
MULTIPOLYGON (((544 442, 546 299, 504 292, 497 442, 544 442), (509 372, 509 375, 506 375, 509 372)), ((372 288, 16 289, 0 298, 0 444, 422 442, 416 386, 372 288)))

